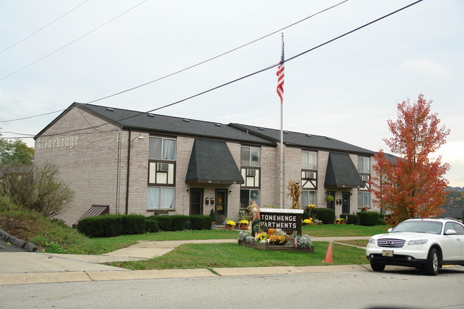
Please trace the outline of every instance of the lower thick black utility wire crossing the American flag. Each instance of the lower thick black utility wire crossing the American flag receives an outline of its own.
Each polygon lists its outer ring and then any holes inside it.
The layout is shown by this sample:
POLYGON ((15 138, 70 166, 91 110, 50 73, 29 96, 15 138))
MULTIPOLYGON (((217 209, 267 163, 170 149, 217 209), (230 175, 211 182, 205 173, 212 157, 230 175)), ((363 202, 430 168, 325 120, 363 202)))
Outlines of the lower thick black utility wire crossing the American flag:
MULTIPOLYGON (((359 27, 356 28, 356 29, 353 29, 353 30, 351 30, 351 31, 346 32, 345 34, 342 34, 342 35, 340 35, 340 36, 337 36, 336 38, 333 38, 333 39, 331 39, 331 40, 328 40, 328 41, 324 42, 323 44, 319 44, 318 46, 315 46, 315 47, 313 47, 312 49, 308 49, 308 50, 306 50, 306 51, 303 51, 303 52, 300 53, 300 54, 297 54, 296 56, 292 56, 292 57, 286 59, 285 62, 292 61, 293 59, 296 59, 296 58, 298 58, 298 57, 300 57, 300 56, 303 56, 303 55, 307 54, 307 53, 310 52, 310 51, 314 51, 315 49, 318 49, 318 48, 320 48, 320 47, 322 47, 322 46, 325 46, 326 44, 329 44, 329 43, 331 43, 331 42, 333 42, 333 41, 336 41, 336 40, 338 40, 338 39, 341 39, 341 38, 343 38, 343 36, 347 36, 348 34, 352 34, 353 32, 358 31, 358 30, 360 30, 360 29, 363 29, 363 28, 365 28, 366 26, 369 26, 369 25, 371 25, 371 24, 374 24, 374 23, 376 23, 376 22, 378 22, 378 21, 380 21, 380 20, 382 20, 382 19, 385 19, 385 18, 387 18, 388 16, 391 16, 391 15, 393 15, 393 14, 396 14, 396 13, 400 12, 400 11, 403 11, 404 9, 408 9, 410 6, 413 6, 413 5, 415 5, 415 4, 418 4, 418 3, 421 2, 421 1, 423 1, 423 0, 418 0, 418 1, 413 2, 412 4, 408 4, 407 6, 403 6, 403 8, 398 9, 398 10, 396 10, 396 11, 393 11, 393 12, 391 12, 390 14, 386 14, 386 15, 384 15, 384 16, 378 18, 378 19, 375 19, 375 20, 373 20, 373 21, 368 22, 367 24, 364 24, 363 26, 359 26, 359 27)), ((79 128, 79 129, 76 129, 76 130, 71 130, 71 131, 66 131, 66 132, 61 132, 61 133, 54 133, 54 134, 42 135, 42 137, 58 136, 58 135, 61 135, 61 134, 74 133, 74 132, 77 132, 77 131, 84 131, 84 130, 88 130, 88 129, 91 129, 91 128, 99 128, 99 127, 101 127, 101 126, 106 126, 106 125, 109 125, 109 124, 118 123, 119 121, 127 120, 127 119, 134 118, 134 117, 138 117, 138 116, 144 115, 144 114, 146 114, 146 113, 151 113, 151 112, 153 112, 153 111, 158 111, 158 110, 160 110, 160 109, 162 109, 162 108, 166 108, 166 107, 169 107, 169 106, 173 106, 173 105, 176 105, 176 104, 181 103, 181 102, 183 102, 183 101, 187 101, 187 100, 189 100, 189 99, 191 99, 191 98, 195 98, 195 97, 197 97, 197 96, 201 96, 201 95, 203 95, 203 94, 205 94, 205 93, 208 93, 208 92, 211 92, 211 91, 213 91, 213 90, 216 90, 216 89, 218 89, 218 88, 222 88, 223 86, 227 86, 227 85, 229 85, 229 84, 231 84, 231 83, 235 83, 236 81, 241 81, 242 79, 251 77, 251 76, 253 76, 253 75, 262 73, 262 72, 264 72, 264 71, 268 71, 269 69, 275 68, 275 67, 278 66, 279 64, 280 64, 280 63, 273 64, 273 65, 271 65, 271 66, 268 66, 268 67, 265 68, 265 69, 261 69, 261 70, 259 70, 259 71, 256 71, 256 72, 253 72, 253 73, 251 73, 251 74, 248 74, 248 75, 246 75, 246 76, 242 76, 242 77, 240 77, 240 78, 236 78, 236 79, 234 79, 233 81, 228 81, 227 83, 223 83, 223 84, 221 84, 221 85, 219 85, 219 86, 216 86, 216 87, 213 87, 213 88, 209 88, 209 89, 206 90, 206 91, 202 91, 202 92, 200 92, 200 93, 196 93, 195 95, 189 96, 188 98, 183 98, 183 99, 181 99, 181 100, 179 100, 179 101, 176 101, 176 102, 173 102, 173 103, 169 103, 169 104, 167 104, 167 105, 160 106, 160 107, 158 107, 158 108, 153 108, 153 109, 151 109, 150 111, 138 112, 136 115, 128 116, 128 117, 121 118, 121 119, 118 119, 118 120, 115 120, 115 121, 109 121, 109 122, 107 122, 107 123, 102 123, 102 124, 100 124, 99 126, 87 127, 87 128, 79 128)), ((85 105, 85 104, 84 104, 84 103, 81 103, 81 105, 85 105)))

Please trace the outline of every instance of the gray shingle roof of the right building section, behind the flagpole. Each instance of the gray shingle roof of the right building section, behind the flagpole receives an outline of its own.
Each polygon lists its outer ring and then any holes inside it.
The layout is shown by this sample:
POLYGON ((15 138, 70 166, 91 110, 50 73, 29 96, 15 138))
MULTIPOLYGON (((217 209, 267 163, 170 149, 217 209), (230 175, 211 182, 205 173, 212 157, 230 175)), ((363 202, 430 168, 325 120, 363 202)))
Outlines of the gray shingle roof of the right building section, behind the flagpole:
MULTIPOLYGON (((257 126, 248 126, 241 123, 231 123, 231 126, 241 128, 242 130, 256 133, 258 136, 265 138, 271 138, 273 141, 278 143, 280 141, 280 130, 273 128, 260 128, 257 126)), ((287 146, 298 146, 301 148, 321 149, 328 151, 347 151, 350 153, 360 153, 369 156, 373 156, 374 152, 365 148, 338 141, 334 138, 327 136, 317 136, 307 133, 298 133, 291 131, 283 131, 283 143, 287 146)))

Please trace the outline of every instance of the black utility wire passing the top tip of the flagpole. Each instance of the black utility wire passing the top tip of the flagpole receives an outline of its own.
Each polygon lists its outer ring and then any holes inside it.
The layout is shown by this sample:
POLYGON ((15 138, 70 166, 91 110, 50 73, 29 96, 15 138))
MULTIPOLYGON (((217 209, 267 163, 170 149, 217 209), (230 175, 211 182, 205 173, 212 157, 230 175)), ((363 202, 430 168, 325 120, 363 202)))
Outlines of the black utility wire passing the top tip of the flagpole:
MULTIPOLYGON (((86 104, 95 103, 95 102, 97 102, 97 101, 101 101, 101 100, 104 100, 104 99, 106 99, 106 98, 111 98, 112 96, 118 96, 118 95, 121 94, 121 93, 126 93, 126 92, 132 91, 132 90, 134 90, 134 89, 136 89, 136 88, 141 88, 141 87, 143 87, 143 86, 146 86, 146 85, 148 85, 148 84, 150 84, 150 83, 154 83, 154 82, 156 82, 156 81, 161 81, 161 79, 168 78, 168 77, 170 77, 170 76, 179 74, 179 73, 181 73, 181 72, 183 72, 183 71, 187 71, 188 69, 192 69, 192 68, 194 68, 194 67, 196 67, 196 66, 200 66, 201 64, 205 64, 205 63, 208 62, 208 61, 212 61, 212 60, 214 60, 214 59, 218 59, 218 58, 221 57, 221 56, 224 56, 224 55, 226 55, 226 54, 230 54, 230 53, 233 52, 233 51, 236 51, 236 50, 238 50, 238 49, 241 49, 241 48, 243 48, 243 47, 245 47, 245 46, 248 46, 248 45, 250 45, 250 44, 256 43, 257 41, 260 41, 260 40, 262 40, 262 39, 265 39, 265 38, 267 38, 268 36, 272 36, 273 34, 276 34, 276 33, 278 33, 278 32, 281 32, 281 31, 283 31, 283 30, 285 30, 285 29, 287 29, 287 28, 290 28, 291 26, 295 26, 296 24, 300 24, 301 22, 306 21, 307 19, 310 19, 310 18, 313 17, 313 16, 316 16, 316 15, 318 15, 318 14, 321 14, 321 13, 323 13, 324 11, 328 11, 329 9, 333 9, 333 8, 335 8, 336 6, 339 6, 339 5, 341 5, 341 4, 343 4, 343 3, 347 2, 347 1, 348 1, 348 0, 341 1, 340 3, 335 4, 335 5, 333 5, 333 6, 330 6, 330 7, 328 7, 327 9, 323 9, 322 11, 318 11, 317 13, 312 14, 312 15, 310 15, 310 16, 304 18, 304 19, 301 19, 301 20, 299 20, 299 21, 296 21, 296 22, 294 22, 293 24, 290 24, 290 25, 285 26, 285 27, 283 27, 283 28, 281 28, 281 29, 278 29, 278 30, 276 30, 276 31, 273 31, 273 32, 271 32, 271 34, 266 34, 266 36, 261 36, 261 38, 258 38, 258 39, 255 39, 255 40, 253 40, 253 41, 250 41, 250 42, 248 42, 248 43, 246 43, 246 44, 243 44, 243 45, 241 45, 241 46, 238 46, 238 47, 236 47, 235 49, 231 49, 230 51, 226 51, 226 52, 224 52, 224 53, 222 53, 222 54, 218 54, 217 56, 213 56, 213 57, 210 58, 210 59, 206 59, 206 60, 204 60, 204 61, 198 62, 198 64, 193 64, 193 65, 191 65, 191 66, 188 66, 188 67, 185 68, 185 69, 181 69, 181 70, 179 70, 179 71, 175 71, 175 72, 173 72, 173 73, 171 73, 171 74, 162 76, 162 77, 160 77, 160 78, 153 79, 153 81, 148 81, 148 82, 146 82, 146 83, 142 83, 141 85, 138 85, 138 86, 135 86, 135 87, 132 87, 132 88, 128 88, 128 89, 123 90, 123 91, 119 91, 118 93, 114 93, 114 94, 111 94, 111 95, 109 95, 109 96, 105 96, 105 97, 103 97, 103 98, 98 98, 98 99, 96 99, 96 100, 94 100, 94 101, 89 101, 89 102, 87 102, 86 104)), ((51 114, 51 113, 59 113, 60 111, 66 111, 66 109, 67 109, 67 108, 61 109, 61 110, 59 110, 59 111, 51 111, 50 113, 42 113, 42 114, 40 114, 40 115, 35 115, 35 116, 29 116, 29 117, 24 117, 24 118, 16 118, 16 119, 11 119, 11 120, 0 121, 0 123, 11 122, 11 121, 19 121, 19 120, 30 119, 30 118, 40 117, 40 116, 46 116, 46 115, 49 115, 49 114, 51 114)))

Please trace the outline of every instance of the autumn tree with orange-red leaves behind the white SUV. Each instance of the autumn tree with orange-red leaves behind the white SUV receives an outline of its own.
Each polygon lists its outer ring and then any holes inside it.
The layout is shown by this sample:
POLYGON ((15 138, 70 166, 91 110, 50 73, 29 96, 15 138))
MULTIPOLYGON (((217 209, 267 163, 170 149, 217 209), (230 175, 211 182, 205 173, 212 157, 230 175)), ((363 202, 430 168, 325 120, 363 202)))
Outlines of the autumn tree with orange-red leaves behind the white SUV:
POLYGON ((392 160, 382 150, 374 156, 373 202, 391 212, 393 224, 437 216, 446 201, 448 181, 443 176, 450 165, 441 163, 441 156, 430 158, 430 154, 446 143, 450 131, 438 127, 440 119, 430 112, 431 103, 423 94, 415 103, 409 99, 398 103, 398 120, 388 120, 393 137, 383 141, 400 157, 392 160))

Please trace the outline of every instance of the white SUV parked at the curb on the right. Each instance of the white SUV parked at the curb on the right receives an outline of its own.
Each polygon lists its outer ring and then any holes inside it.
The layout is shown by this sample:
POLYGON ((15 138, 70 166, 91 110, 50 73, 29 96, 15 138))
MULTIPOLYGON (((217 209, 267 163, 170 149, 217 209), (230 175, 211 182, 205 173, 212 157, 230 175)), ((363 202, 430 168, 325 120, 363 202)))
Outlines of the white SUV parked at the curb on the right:
POLYGON ((443 265, 464 265, 464 225, 453 218, 409 219, 373 235, 365 255, 374 271, 398 265, 436 275, 443 265))

